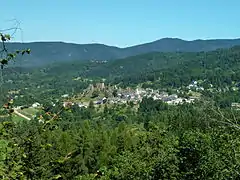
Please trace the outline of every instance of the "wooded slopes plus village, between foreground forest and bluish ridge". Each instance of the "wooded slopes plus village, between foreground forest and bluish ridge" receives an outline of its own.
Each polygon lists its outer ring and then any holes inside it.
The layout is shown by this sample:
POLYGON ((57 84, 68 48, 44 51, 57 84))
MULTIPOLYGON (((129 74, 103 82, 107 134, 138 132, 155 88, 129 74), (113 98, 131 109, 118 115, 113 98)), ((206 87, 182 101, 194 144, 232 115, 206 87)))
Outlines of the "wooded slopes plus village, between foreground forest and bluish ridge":
MULTIPOLYGON (((231 55, 240 57, 238 46, 201 53, 150 53, 104 63, 71 61, 52 67, 26 68, 22 72, 14 70, 15 75, 11 78, 8 74, 5 82, 12 86, 9 98, 14 99, 18 108, 36 103, 52 106, 59 100, 64 106, 79 107, 88 107, 91 101, 97 106, 139 105, 145 97, 175 105, 211 97, 221 107, 232 107, 240 103, 237 98, 240 69, 238 61, 226 59, 231 55)), ((11 68, 8 70, 11 72, 11 68)))

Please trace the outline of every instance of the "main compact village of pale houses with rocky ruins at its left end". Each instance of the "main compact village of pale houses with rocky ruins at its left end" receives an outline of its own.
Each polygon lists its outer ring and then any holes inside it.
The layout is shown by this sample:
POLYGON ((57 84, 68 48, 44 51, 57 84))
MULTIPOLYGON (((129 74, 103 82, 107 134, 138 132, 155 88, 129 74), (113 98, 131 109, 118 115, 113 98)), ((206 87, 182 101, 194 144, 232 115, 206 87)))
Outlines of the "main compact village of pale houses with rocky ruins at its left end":
MULTIPOLYGON (((196 86, 196 85, 195 85, 196 86)), ((193 86, 193 87, 195 87, 193 86)), ((202 89, 202 87, 200 87, 202 89)), ((179 92, 179 91, 178 91, 179 92)), ((132 102, 139 104, 143 98, 153 98, 153 100, 161 100, 169 105, 178 105, 183 103, 193 103, 200 98, 200 94, 196 96, 189 96, 188 98, 179 97, 176 94, 169 94, 151 88, 126 88, 122 89, 115 86, 106 86, 103 82, 90 84, 89 87, 77 98, 71 98, 68 94, 62 95, 65 98, 63 106, 70 106, 77 104, 79 107, 87 107, 90 101, 95 106, 102 104, 126 104, 132 102)))

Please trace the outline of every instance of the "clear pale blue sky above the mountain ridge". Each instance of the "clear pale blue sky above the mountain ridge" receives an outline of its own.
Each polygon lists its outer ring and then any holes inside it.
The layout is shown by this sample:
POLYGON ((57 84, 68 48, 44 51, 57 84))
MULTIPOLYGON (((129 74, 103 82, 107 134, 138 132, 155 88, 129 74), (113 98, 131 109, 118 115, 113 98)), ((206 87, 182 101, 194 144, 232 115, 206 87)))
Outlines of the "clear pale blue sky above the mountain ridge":
POLYGON ((13 41, 103 43, 127 47, 172 37, 240 37, 239 0, 5 0, 0 30, 13 41))

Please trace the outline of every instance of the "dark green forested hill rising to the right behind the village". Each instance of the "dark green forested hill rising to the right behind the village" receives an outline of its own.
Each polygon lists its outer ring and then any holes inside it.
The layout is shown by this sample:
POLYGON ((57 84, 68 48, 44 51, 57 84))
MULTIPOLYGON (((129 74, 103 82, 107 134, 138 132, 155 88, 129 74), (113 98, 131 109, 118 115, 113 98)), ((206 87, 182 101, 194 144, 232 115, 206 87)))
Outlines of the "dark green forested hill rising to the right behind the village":
POLYGON ((112 76, 115 74, 115 83, 151 81, 162 87, 181 87, 193 80, 206 80, 217 87, 227 87, 239 83, 240 46, 211 52, 146 54, 113 62, 107 69, 112 76))

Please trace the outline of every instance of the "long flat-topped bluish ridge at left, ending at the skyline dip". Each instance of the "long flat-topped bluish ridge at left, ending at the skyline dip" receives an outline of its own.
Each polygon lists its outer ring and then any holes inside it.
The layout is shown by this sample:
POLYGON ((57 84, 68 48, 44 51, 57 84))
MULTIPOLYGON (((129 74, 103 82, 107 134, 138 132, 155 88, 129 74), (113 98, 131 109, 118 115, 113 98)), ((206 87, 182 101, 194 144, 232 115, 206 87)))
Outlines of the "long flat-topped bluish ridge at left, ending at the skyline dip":
POLYGON ((39 66, 72 60, 109 60, 121 57, 123 50, 103 44, 73 44, 64 42, 8 43, 8 49, 31 49, 30 55, 20 57, 19 64, 39 66))

